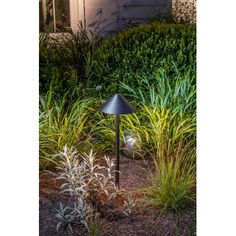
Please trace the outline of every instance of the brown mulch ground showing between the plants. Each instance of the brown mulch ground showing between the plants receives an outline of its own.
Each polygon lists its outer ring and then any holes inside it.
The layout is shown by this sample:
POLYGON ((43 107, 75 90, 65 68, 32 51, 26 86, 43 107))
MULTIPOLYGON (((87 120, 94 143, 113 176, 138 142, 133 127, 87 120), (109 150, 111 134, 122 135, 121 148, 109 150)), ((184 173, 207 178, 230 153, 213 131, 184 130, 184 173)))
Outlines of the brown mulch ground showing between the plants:
MULTIPOLYGON (((132 160, 122 157, 120 161, 120 186, 138 199, 138 188, 148 186, 148 166, 151 161, 132 160)), ((59 207, 59 202, 66 204, 68 196, 60 193, 61 182, 48 173, 40 174, 40 202, 39 202, 39 235, 56 236, 67 235, 65 232, 56 231, 58 223, 55 218, 54 207, 59 207)), ((86 236, 80 225, 74 225, 74 235, 86 236)), ((166 213, 156 217, 153 210, 144 212, 137 204, 131 217, 118 217, 106 219, 104 236, 191 236, 196 235, 195 210, 182 212, 178 215, 166 213)))

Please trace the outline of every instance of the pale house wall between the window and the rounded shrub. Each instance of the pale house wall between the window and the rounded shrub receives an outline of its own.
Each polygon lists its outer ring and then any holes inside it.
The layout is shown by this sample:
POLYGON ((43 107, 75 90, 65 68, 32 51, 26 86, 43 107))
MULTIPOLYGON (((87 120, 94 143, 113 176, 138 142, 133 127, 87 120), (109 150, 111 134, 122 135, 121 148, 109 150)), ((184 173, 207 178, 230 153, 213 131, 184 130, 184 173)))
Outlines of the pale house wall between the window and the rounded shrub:
POLYGON ((143 23, 170 11, 171 0, 79 0, 82 21, 90 30, 112 34, 129 22, 143 23))

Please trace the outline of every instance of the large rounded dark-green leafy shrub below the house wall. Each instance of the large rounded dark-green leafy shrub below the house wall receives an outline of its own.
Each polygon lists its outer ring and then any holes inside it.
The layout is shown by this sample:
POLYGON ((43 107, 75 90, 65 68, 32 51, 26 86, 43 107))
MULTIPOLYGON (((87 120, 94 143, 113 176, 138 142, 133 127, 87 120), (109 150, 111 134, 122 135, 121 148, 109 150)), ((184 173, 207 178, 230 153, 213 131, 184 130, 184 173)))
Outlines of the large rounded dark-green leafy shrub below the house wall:
POLYGON ((194 25, 153 22, 118 33, 94 53, 90 86, 102 85, 109 96, 123 93, 121 82, 142 88, 143 79, 155 83, 153 77, 163 71, 170 81, 187 74, 195 85, 195 31, 194 25))

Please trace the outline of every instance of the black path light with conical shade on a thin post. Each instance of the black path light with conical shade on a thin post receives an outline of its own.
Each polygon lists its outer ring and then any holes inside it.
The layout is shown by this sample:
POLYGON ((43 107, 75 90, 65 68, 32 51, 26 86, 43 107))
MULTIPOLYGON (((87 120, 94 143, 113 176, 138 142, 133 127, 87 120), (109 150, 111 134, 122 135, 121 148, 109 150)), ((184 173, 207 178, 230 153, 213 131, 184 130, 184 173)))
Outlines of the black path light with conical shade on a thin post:
POLYGON ((119 146, 120 146, 120 138, 119 138, 119 125, 120 125, 120 114, 130 114, 135 111, 135 109, 129 104, 129 102, 120 94, 113 95, 107 102, 105 102, 100 109, 102 112, 107 114, 116 115, 116 186, 120 188, 119 183, 119 146))

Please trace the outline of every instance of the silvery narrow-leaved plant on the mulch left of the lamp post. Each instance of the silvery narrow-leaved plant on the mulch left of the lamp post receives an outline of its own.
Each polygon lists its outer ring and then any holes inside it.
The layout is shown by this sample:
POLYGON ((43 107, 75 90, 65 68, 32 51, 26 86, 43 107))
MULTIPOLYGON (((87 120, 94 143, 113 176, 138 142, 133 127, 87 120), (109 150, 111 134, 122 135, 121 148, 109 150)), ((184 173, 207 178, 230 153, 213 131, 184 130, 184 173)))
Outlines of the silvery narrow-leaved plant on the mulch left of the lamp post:
POLYGON ((66 145, 59 156, 57 179, 63 181, 61 192, 69 193, 73 206, 63 207, 60 203, 56 214, 57 231, 63 226, 68 235, 73 235, 72 223, 78 220, 89 235, 100 235, 104 227, 102 216, 131 215, 136 202, 127 191, 116 187, 114 159, 104 156, 99 162, 92 150, 81 156, 66 145), (117 202, 122 202, 122 207, 117 206, 117 202))

